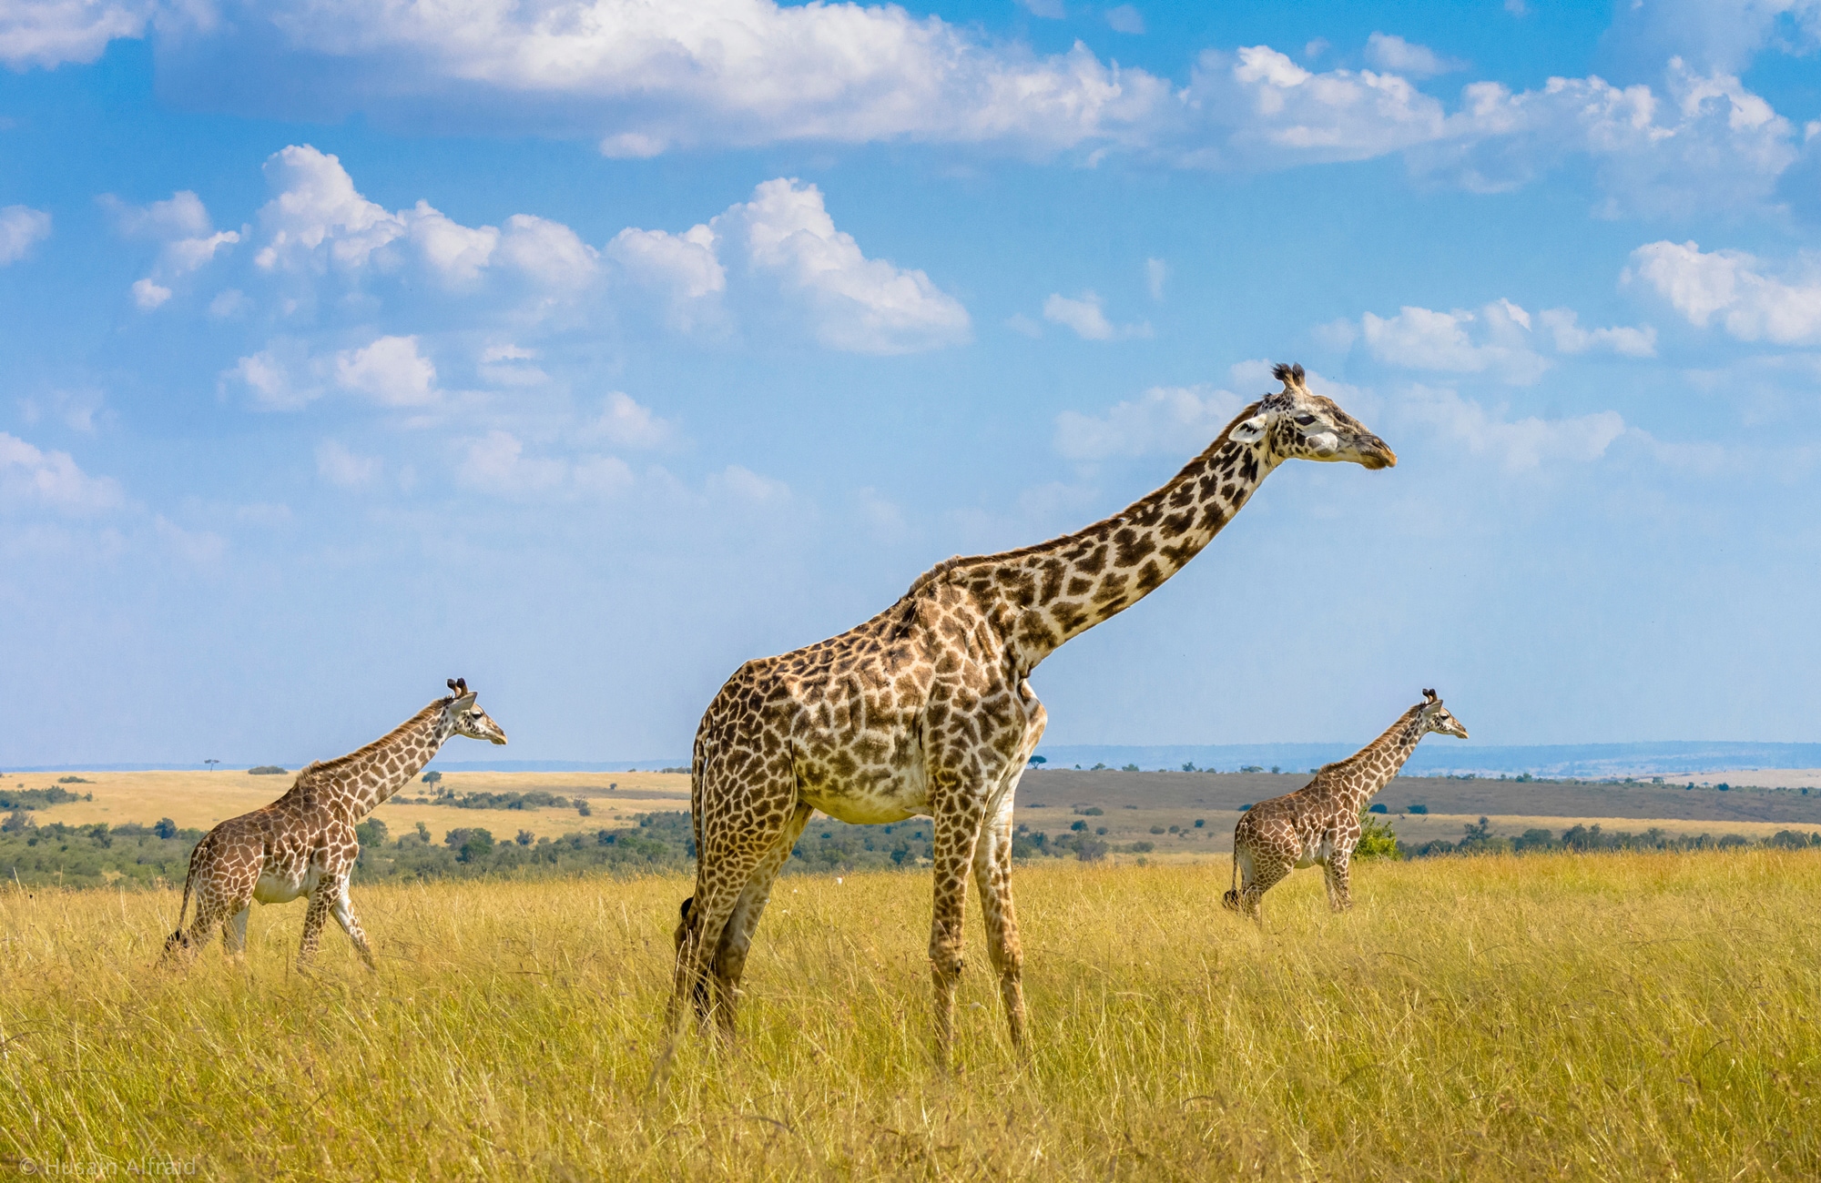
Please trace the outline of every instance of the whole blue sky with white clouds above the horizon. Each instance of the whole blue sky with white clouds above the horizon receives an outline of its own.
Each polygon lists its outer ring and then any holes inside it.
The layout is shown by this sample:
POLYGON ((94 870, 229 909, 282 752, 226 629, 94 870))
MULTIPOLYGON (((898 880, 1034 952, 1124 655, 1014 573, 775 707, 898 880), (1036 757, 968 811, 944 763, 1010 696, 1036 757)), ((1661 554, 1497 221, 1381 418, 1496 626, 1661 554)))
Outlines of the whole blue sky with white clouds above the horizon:
MULTIPOLYGON (((0 766, 300 761, 745 659, 1291 464, 1049 743, 1814 739, 1821 2, 0 0, 0 766), (676 9, 676 11, 672 11, 676 9)), ((457 753, 450 753, 457 757, 457 753)))

